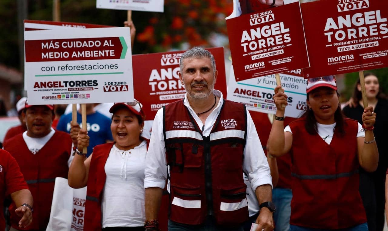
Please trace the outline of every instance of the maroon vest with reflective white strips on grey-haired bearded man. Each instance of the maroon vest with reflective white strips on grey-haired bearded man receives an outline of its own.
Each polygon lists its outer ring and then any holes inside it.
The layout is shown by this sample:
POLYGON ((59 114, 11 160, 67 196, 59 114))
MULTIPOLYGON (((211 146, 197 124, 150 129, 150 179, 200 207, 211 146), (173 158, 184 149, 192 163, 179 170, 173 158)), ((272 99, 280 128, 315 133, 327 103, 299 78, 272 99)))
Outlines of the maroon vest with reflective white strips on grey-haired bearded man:
POLYGON ((163 117, 171 221, 202 224, 207 216, 222 226, 246 221, 246 184, 241 177, 245 105, 224 100, 208 137, 202 136, 183 100, 166 105, 163 117))

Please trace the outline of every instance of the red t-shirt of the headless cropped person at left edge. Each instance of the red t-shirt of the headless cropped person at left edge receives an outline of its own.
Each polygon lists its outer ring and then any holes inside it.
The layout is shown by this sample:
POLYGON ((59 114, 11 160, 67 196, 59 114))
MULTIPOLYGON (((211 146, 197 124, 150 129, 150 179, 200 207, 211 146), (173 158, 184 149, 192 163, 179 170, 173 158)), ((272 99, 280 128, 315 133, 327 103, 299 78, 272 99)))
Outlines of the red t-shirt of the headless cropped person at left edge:
MULTIPOLYGON (((28 189, 19 165, 9 152, 0 149, 0 208, 3 208, 4 198, 16 191, 28 189)), ((0 230, 5 229, 3 213, 0 215, 0 230)))

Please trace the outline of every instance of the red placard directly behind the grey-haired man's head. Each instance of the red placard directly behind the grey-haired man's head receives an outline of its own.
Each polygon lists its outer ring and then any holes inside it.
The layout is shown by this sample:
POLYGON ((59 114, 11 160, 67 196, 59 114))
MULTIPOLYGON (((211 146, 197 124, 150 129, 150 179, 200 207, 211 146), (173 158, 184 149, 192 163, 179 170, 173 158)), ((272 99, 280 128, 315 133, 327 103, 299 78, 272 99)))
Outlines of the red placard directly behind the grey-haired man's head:
MULTIPOLYGON (((226 98, 223 47, 206 50, 214 55, 218 70, 214 88, 226 98)), ((179 80, 179 61, 184 52, 132 55, 134 96, 142 102, 147 120, 153 120, 156 111, 164 105, 184 98, 186 91, 179 80)))

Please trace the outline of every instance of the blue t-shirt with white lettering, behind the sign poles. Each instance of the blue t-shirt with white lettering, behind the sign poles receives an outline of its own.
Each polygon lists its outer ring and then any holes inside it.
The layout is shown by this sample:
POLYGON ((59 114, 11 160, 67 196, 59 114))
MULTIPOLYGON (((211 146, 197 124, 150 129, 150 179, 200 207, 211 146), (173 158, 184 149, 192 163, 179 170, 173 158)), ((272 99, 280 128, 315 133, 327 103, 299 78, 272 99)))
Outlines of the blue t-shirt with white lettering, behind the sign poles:
MULTIPOLYGON (((70 133, 71 113, 61 116, 57 124, 57 130, 70 133)), ((81 114, 77 112, 77 122, 82 128, 81 114)), ((90 137, 87 157, 92 154, 96 145, 106 143, 107 140, 113 140, 111 132, 111 119, 99 112, 86 116, 88 136, 90 137)))

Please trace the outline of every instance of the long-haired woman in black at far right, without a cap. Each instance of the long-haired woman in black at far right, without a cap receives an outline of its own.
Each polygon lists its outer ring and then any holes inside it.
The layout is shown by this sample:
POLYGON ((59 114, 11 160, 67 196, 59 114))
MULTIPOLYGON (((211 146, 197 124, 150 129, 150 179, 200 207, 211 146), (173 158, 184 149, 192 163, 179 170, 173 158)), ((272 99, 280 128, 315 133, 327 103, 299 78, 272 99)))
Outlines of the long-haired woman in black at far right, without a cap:
MULTIPOLYGON (((382 231, 384 228, 384 185, 388 167, 388 145, 385 132, 388 129, 388 101, 382 92, 376 74, 364 74, 368 105, 373 107, 376 117, 374 136, 379 150, 379 165, 376 172, 369 173, 360 168, 360 194, 368 220, 369 231, 382 231)), ((364 103, 362 102, 360 79, 355 84, 350 103, 343 109, 345 116, 362 122, 364 103)))

